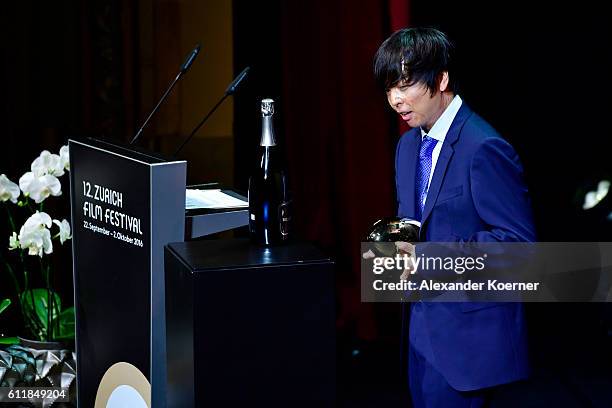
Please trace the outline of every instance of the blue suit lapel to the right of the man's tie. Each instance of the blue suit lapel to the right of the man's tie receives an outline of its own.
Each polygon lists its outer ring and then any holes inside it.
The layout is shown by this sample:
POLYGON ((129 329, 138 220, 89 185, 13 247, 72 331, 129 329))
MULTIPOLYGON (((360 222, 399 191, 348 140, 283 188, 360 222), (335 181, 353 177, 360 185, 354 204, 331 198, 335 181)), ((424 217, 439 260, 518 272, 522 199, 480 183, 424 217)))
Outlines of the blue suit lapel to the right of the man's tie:
MULTIPOLYGON (((425 225, 427 218, 431 214, 431 210, 433 209, 437 199, 438 194, 440 193, 440 187, 442 186, 442 180, 444 180, 444 175, 446 174, 446 168, 448 167, 448 163, 453 157, 453 153, 455 149, 453 145, 459 139, 459 133, 461 132, 461 128, 463 124, 472 114, 472 110, 465 104, 465 102, 461 105, 461 108, 455 115, 453 119, 453 123, 451 127, 448 129, 448 133, 446 134, 446 138, 444 139, 444 143, 442 144, 442 150, 440 151, 440 156, 438 156, 438 161, 436 163, 436 168, 434 170, 433 177, 431 178, 431 183, 429 185, 429 191, 427 192, 427 199, 425 200, 425 208, 423 208, 423 217, 421 221, 421 225, 425 225)), ((423 231, 423 229, 421 229, 423 231)))

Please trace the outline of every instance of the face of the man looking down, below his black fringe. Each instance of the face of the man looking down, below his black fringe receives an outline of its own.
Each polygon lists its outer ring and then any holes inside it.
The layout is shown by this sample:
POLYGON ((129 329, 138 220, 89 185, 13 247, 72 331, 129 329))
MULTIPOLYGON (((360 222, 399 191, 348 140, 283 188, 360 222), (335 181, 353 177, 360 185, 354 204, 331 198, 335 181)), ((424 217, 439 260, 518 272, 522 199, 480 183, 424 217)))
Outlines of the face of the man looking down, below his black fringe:
POLYGON ((387 90, 387 100, 408 126, 429 130, 445 109, 440 91, 448 85, 446 73, 439 85, 440 89, 432 95, 425 84, 408 84, 402 80, 387 90))

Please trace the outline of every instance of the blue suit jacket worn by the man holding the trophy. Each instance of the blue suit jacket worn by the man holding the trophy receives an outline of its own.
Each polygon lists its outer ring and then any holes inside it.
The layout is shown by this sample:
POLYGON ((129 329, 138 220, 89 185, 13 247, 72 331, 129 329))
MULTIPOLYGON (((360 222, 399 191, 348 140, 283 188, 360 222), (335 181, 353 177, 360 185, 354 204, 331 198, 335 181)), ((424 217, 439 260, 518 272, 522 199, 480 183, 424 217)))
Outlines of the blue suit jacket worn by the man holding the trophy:
MULTIPOLYGON (((415 217, 420 129, 396 151, 399 215, 415 217)), ((534 241, 518 155, 466 104, 446 135, 423 210, 422 241, 534 241)), ((422 302, 411 339, 431 345, 430 363, 460 391, 508 383, 528 374, 525 322, 518 303, 422 302)))

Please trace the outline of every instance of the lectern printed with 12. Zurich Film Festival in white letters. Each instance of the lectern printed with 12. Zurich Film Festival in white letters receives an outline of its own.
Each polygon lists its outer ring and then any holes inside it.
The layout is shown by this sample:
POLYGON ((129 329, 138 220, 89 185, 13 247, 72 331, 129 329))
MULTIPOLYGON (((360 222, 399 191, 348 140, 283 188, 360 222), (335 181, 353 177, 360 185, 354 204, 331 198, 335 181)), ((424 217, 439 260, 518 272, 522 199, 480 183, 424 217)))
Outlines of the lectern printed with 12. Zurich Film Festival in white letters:
MULTIPOLYGON (((163 248, 186 236, 187 163, 95 139, 69 149, 78 406, 163 408, 163 248)), ((248 222, 247 210, 198 217, 188 238, 248 222)))

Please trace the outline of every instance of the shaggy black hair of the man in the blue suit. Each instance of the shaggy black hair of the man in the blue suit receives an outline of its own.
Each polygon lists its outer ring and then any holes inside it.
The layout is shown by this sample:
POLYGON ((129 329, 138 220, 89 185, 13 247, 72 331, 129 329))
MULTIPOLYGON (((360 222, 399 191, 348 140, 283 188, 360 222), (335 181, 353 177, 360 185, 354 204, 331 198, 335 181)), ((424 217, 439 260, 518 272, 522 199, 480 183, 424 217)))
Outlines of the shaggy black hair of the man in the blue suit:
POLYGON ((374 55, 374 76, 388 90, 401 80, 422 83, 431 94, 438 90, 443 72, 448 72, 448 89, 455 92, 451 75, 453 46, 446 34, 435 28, 404 28, 387 38, 374 55))

